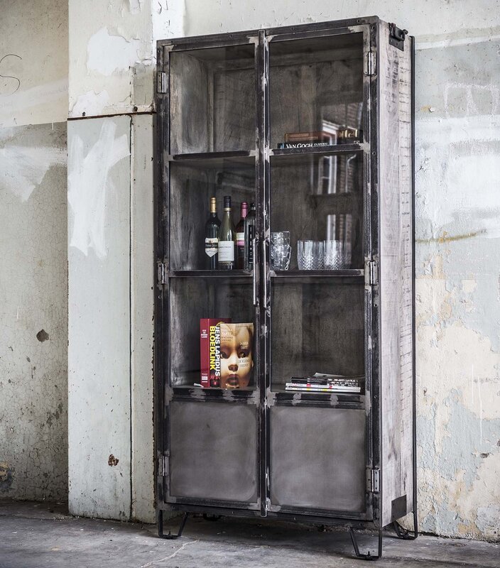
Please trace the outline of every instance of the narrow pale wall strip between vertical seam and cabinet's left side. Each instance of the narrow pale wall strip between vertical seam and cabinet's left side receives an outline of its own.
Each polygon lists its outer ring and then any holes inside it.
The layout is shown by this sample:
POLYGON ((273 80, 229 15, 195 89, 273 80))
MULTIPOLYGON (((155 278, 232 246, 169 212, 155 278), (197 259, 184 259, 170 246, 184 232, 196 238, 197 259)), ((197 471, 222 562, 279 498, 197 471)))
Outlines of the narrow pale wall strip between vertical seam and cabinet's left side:
POLYGON ((132 517, 153 523, 153 116, 134 116, 132 139, 132 517))

